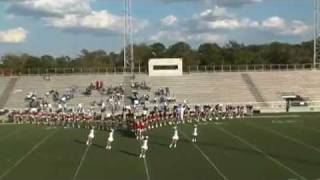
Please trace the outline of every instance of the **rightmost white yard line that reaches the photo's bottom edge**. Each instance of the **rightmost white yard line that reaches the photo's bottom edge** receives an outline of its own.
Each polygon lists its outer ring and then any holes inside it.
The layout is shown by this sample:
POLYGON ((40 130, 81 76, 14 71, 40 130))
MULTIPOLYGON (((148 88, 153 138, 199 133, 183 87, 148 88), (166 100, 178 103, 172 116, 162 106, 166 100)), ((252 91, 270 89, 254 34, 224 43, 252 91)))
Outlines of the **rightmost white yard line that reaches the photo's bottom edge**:
MULTIPOLYGON (((214 126, 215 127, 215 126, 214 126)), ((271 157, 270 155, 268 155, 267 153, 265 153, 264 151, 262 151, 261 149, 259 149, 258 147, 256 147, 255 145, 251 144, 250 142, 248 142, 247 140, 241 138, 240 136, 237 136, 229 131, 227 131, 224 128, 219 128, 219 127, 215 127, 216 129, 224 132, 225 134, 237 139, 238 141, 241 141, 242 143, 248 145, 249 147, 251 147, 253 150, 255 150, 256 152, 259 152, 260 154, 264 155, 266 158, 270 159, 271 161, 273 161, 274 163, 278 164, 279 166, 281 166, 282 168, 286 169, 287 171, 289 171, 290 173, 292 173, 293 175, 299 177, 302 180, 307 180, 305 177, 303 177, 302 175, 300 175, 298 172, 294 171, 293 169, 291 169, 290 167, 286 166, 285 164, 283 164, 282 162, 278 161, 277 159, 271 157)))

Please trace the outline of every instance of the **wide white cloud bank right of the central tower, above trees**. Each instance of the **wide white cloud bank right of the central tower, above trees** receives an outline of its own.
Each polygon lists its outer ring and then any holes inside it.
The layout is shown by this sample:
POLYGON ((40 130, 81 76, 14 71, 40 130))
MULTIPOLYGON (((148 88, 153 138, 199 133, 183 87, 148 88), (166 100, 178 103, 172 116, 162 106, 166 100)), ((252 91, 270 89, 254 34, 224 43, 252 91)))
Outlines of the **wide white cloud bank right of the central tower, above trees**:
MULTIPOLYGON (((167 19, 169 21, 170 18, 167 19)), ((243 40, 243 36, 251 38, 250 33, 255 35, 262 34, 265 37, 276 36, 280 40, 287 36, 298 37, 305 35, 311 29, 310 26, 302 21, 286 21, 279 16, 257 21, 233 14, 229 12, 229 9, 219 6, 206 9, 189 18, 179 19, 175 23, 175 26, 162 27, 159 32, 150 37, 150 40, 165 42, 186 41, 189 43, 215 42, 222 44, 228 40, 241 38, 243 40)))

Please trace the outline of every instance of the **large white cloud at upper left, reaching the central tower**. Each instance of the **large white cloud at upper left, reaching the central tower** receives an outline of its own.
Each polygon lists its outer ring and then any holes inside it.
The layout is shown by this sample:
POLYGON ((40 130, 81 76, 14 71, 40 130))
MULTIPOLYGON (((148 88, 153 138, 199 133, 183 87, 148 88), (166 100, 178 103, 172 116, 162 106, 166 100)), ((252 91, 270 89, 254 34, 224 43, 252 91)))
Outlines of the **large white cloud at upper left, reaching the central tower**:
MULTIPOLYGON (((9 7, 13 15, 37 17, 46 25, 65 32, 108 35, 123 33, 123 17, 106 10, 95 11, 94 0, 25 0, 9 7)), ((144 20, 133 19, 134 32, 147 26, 144 20)))

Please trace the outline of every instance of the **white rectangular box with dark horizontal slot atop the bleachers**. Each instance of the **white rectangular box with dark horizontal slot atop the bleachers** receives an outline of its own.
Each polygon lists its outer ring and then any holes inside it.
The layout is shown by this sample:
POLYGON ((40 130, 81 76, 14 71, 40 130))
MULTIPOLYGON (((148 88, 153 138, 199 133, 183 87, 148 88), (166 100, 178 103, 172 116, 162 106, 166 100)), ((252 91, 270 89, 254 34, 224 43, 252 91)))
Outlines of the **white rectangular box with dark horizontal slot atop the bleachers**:
POLYGON ((181 58, 149 59, 149 76, 182 76, 181 58))

